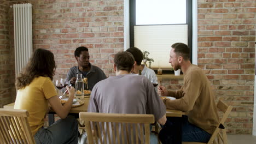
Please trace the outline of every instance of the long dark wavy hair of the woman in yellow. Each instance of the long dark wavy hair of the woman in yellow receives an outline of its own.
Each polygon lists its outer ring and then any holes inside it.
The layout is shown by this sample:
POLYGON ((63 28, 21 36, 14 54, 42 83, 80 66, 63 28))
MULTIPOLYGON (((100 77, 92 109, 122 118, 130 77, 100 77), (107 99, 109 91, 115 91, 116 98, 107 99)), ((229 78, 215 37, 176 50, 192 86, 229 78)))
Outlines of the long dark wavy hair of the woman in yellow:
POLYGON ((53 80, 55 69, 53 53, 44 49, 36 49, 26 67, 17 77, 15 86, 17 89, 24 88, 39 76, 50 77, 53 80))

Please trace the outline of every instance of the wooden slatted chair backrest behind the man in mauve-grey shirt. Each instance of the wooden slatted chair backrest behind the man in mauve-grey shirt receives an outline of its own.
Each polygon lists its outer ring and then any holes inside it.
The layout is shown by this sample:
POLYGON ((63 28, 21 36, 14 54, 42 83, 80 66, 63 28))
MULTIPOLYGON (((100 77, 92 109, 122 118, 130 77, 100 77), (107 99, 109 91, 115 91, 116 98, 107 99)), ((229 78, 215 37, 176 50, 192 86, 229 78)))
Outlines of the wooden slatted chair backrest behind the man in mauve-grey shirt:
POLYGON ((80 112, 79 118, 84 121, 89 144, 149 143, 149 124, 154 123, 153 115, 142 114, 80 112))

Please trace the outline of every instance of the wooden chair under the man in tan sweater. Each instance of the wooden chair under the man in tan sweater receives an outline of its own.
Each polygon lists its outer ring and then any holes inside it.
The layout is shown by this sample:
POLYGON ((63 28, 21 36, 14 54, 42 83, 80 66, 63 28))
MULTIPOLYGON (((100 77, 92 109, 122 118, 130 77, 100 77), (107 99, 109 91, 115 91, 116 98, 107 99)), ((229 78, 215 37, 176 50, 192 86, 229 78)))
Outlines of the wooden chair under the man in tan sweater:
MULTIPOLYGON (((226 118, 229 116, 229 113, 232 110, 232 106, 230 105, 226 105, 225 103, 223 103, 223 101, 219 100, 217 107, 220 111, 222 111, 223 117, 219 122, 219 127, 217 127, 212 136, 211 139, 207 142, 207 144, 212 144, 212 143, 218 143, 218 144, 227 144, 228 143, 228 139, 226 137, 226 129, 224 127, 224 122, 226 121, 226 118)), ((182 144, 200 144, 203 142, 182 142, 182 144)))

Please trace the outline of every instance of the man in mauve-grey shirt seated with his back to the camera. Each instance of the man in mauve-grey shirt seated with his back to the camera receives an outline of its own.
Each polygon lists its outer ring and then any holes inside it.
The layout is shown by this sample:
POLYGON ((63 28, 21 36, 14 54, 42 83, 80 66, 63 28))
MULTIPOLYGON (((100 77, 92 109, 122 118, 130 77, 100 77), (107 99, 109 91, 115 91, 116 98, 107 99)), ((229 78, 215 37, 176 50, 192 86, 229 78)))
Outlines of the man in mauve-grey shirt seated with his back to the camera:
MULTIPOLYGON (((166 107, 146 77, 131 75, 134 61, 130 52, 115 55, 116 76, 110 76, 94 86, 88 112, 152 114, 155 121, 164 125, 166 107)), ((150 141, 157 143, 157 138, 154 139, 152 134, 150 141)))

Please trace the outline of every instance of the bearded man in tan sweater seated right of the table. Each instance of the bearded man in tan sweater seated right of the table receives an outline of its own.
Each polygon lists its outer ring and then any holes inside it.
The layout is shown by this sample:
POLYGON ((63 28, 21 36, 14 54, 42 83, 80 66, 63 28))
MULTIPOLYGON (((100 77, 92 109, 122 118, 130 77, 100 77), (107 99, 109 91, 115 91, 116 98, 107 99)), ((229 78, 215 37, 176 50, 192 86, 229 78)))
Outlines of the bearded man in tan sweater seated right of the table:
MULTIPOLYGON (((162 96, 170 96, 176 100, 163 99, 167 109, 181 110, 188 113, 182 117, 182 141, 207 142, 218 126, 219 117, 214 101, 214 93, 210 81, 203 70, 189 61, 189 47, 183 43, 172 45, 170 60, 174 70, 181 69, 184 85, 176 92, 167 91, 159 86, 162 96)), ((168 118, 172 121, 172 118, 168 118)), ((164 125, 159 134, 162 143, 171 143, 175 136, 173 122, 164 125), (168 134, 167 134, 168 133, 168 134)))

